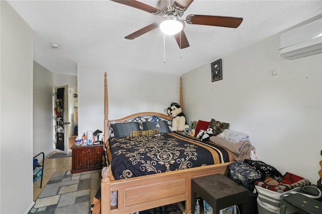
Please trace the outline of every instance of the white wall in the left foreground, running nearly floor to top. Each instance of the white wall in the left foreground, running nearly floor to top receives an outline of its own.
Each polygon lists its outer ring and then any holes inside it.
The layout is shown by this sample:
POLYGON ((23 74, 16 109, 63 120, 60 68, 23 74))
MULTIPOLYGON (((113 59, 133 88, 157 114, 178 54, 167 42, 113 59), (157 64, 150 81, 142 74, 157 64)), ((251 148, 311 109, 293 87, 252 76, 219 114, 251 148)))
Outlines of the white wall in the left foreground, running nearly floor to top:
POLYGON ((26 213, 33 203, 33 31, 1 4, 1 207, 26 213))

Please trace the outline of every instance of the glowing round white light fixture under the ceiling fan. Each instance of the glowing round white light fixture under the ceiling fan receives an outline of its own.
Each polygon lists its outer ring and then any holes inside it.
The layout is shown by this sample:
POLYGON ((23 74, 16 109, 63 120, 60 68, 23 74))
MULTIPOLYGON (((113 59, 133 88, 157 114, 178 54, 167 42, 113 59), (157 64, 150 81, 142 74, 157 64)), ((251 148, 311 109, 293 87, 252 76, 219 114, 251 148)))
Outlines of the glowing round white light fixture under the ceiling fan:
POLYGON ((184 28, 184 22, 176 16, 168 16, 167 19, 162 21, 159 25, 162 32, 167 35, 175 35, 182 31, 184 28))

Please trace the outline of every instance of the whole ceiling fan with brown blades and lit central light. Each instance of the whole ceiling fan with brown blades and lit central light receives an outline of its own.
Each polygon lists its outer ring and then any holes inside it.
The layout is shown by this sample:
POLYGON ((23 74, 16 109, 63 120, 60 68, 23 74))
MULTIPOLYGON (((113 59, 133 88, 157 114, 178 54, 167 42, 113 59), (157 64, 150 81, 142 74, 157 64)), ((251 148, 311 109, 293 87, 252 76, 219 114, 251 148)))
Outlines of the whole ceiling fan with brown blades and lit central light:
POLYGON ((184 32, 185 23, 193 25, 209 25, 227 28, 237 28, 243 18, 207 16, 207 15, 188 15, 186 19, 182 19, 184 12, 191 5, 193 0, 176 0, 171 5, 169 0, 158 0, 158 6, 162 9, 157 9, 144 3, 134 0, 111 0, 122 5, 130 6, 153 15, 160 15, 164 19, 160 23, 152 23, 134 33, 124 37, 125 39, 135 39, 143 34, 150 32, 156 28, 160 28, 167 35, 174 35, 181 49, 189 47, 188 39, 184 32), (167 3, 168 2, 168 3, 167 3))

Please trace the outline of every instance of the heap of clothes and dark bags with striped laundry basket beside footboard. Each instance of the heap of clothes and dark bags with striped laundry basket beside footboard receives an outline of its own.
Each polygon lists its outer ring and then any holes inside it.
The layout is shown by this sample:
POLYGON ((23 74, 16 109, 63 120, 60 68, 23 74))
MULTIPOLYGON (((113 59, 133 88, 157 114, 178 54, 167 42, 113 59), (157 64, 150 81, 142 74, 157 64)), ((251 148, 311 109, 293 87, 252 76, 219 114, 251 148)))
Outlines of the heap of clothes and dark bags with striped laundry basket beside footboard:
POLYGON ((257 195, 259 214, 279 213, 281 195, 300 192, 311 184, 306 178, 289 172, 282 175, 275 167, 250 159, 229 164, 229 175, 257 195))

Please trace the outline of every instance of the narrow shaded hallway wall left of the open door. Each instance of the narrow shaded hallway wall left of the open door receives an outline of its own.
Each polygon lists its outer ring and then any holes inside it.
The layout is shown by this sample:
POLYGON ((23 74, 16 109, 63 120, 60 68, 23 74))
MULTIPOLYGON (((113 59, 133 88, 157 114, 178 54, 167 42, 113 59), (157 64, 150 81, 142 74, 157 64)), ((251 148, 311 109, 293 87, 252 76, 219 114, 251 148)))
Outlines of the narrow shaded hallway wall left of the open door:
MULTIPOLYGON (((48 156, 54 148, 53 74, 34 62, 33 81, 33 156, 40 152, 48 156)), ((37 159, 41 160, 42 156, 37 159)))

